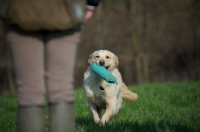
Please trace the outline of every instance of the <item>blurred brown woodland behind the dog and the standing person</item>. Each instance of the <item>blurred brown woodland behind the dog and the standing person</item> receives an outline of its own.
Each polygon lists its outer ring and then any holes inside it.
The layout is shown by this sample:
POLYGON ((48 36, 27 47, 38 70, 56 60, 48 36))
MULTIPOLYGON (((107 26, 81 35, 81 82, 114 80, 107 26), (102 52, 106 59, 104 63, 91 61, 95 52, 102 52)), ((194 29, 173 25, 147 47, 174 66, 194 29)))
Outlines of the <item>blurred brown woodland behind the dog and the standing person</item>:
MULTIPOLYGON (((200 79, 200 0, 102 0, 83 24, 75 69, 82 87, 88 56, 107 49, 127 85, 200 79)), ((0 20, 0 94, 16 92, 0 20)))

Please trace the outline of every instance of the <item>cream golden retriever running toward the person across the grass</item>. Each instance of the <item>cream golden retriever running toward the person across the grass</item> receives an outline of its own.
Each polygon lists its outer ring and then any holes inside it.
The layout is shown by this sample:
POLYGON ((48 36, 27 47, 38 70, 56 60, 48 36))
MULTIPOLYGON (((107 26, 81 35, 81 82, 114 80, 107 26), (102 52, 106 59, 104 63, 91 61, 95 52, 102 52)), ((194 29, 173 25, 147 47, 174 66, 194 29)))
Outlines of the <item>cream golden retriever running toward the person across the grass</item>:
POLYGON ((94 122, 104 125, 114 117, 122 105, 122 100, 134 102, 138 95, 131 92, 124 84, 117 67, 118 57, 108 50, 93 52, 88 59, 89 67, 84 73, 84 90, 88 106, 94 122), (91 64, 97 63, 110 71, 117 79, 118 84, 107 83, 91 71, 91 64), (101 110, 105 113, 101 116, 101 110))

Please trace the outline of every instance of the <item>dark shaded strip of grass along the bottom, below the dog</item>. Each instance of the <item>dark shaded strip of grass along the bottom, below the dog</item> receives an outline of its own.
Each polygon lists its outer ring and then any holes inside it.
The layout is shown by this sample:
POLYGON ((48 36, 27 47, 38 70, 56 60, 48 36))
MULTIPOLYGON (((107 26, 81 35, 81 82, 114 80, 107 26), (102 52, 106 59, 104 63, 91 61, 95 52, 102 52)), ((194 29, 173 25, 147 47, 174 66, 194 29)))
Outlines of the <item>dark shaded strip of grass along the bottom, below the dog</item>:
POLYGON ((100 126, 95 124, 91 117, 78 117, 76 123, 77 127, 84 127, 84 131, 86 132, 198 132, 200 130, 199 128, 188 128, 180 124, 171 125, 167 122, 160 122, 158 124, 146 122, 139 124, 129 121, 110 121, 105 126, 100 126))

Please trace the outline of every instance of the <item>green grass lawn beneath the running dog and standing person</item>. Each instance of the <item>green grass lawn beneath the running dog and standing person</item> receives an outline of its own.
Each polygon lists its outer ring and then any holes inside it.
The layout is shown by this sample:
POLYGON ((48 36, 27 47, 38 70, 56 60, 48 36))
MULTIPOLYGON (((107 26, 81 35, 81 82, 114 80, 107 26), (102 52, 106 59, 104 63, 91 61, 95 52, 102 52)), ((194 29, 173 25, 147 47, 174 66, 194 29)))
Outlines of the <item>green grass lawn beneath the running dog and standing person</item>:
MULTIPOLYGON (((76 131, 200 131, 200 81, 147 84, 129 88, 139 95, 139 100, 135 103, 123 102, 119 114, 105 126, 93 122, 83 90, 76 90, 76 131)), ((16 95, 0 96, 0 131, 2 132, 16 131, 16 98, 16 95)))

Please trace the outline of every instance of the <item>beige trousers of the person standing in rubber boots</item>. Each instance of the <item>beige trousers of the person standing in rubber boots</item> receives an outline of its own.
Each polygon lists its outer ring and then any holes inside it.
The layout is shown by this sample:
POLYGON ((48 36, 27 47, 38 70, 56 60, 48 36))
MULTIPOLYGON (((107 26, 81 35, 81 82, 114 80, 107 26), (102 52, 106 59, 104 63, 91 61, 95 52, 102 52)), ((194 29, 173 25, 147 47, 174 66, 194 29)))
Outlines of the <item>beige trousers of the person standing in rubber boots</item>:
POLYGON ((50 103, 73 102, 74 67, 80 33, 26 32, 9 29, 18 104, 44 105, 45 94, 50 103))

